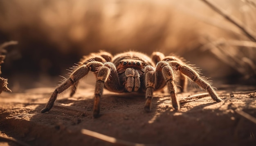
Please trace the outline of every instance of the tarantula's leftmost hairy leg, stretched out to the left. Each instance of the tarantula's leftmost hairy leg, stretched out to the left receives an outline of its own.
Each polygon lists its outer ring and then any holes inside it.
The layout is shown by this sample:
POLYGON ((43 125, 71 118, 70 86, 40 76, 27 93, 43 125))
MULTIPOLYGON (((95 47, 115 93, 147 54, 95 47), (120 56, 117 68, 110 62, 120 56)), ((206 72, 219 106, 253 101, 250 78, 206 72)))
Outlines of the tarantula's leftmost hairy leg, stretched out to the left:
POLYGON ((103 63, 101 62, 90 62, 87 65, 79 66, 71 75, 70 77, 65 80, 62 84, 60 84, 52 93, 52 96, 49 98, 49 101, 45 105, 45 108, 41 110, 41 113, 45 113, 49 111, 52 106, 54 105, 54 102, 57 98, 57 95, 59 93, 62 93, 70 86, 74 86, 79 82, 79 80, 88 74, 89 71, 96 71, 100 66, 103 66, 103 63))

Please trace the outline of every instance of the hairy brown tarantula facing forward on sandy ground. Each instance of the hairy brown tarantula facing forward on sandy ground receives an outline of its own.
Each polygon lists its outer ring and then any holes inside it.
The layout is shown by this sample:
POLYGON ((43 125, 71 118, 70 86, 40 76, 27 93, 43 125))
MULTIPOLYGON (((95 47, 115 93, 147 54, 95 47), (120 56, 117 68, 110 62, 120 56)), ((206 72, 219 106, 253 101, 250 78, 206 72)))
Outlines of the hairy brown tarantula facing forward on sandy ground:
POLYGON ((84 56, 79 65, 73 68, 70 77, 55 89, 41 113, 49 111, 54 105, 57 95, 70 86, 72 86, 70 96, 74 95, 79 80, 89 71, 94 72, 97 80, 94 91, 93 117, 99 116, 99 103, 103 88, 117 93, 145 92, 144 109, 148 112, 151 108, 153 92, 167 85, 173 108, 180 109, 174 84, 175 71, 180 71, 181 92, 186 90, 186 77, 188 77, 200 88, 207 90, 213 100, 222 101, 211 84, 204 80, 204 77, 200 77, 197 71, 175 56, 165 56, 163 53, 154 52, 149 58, 143 53, 128 51, 113 57, 110 53, 101 51, 84 56))

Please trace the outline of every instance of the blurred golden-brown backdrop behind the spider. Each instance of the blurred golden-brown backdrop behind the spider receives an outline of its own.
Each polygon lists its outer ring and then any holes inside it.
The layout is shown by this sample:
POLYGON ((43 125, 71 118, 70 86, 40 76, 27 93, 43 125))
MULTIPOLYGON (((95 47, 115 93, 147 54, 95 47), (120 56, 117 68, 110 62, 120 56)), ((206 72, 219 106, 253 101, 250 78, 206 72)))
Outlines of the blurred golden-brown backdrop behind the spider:
MULTIPOLYGON (((256 38, 254 0, 208 0, 256 38)), ((256 84, 256 43, 203 0, 1 0, 1 77, 13 92, 56 86, 83 55, 160 51, 221 84, 256 84)), ((67 76, 65 76, 67 77, 67 76)))

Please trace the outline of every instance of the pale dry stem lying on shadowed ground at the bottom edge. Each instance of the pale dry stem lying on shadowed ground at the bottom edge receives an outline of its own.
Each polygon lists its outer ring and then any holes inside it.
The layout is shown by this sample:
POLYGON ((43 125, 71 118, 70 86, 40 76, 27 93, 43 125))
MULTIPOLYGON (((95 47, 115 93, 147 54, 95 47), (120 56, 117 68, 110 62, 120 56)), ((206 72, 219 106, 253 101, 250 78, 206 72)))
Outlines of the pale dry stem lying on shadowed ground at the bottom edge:
POLYGON ((127 142, 125 140, 116 139, 115 137, 110 137, 110 136, 103 135, 103 134, 100 134, 100 133, 97 133, 97 132, 94 132, 94 131, 90 131, 90 130, 87 130, 87 129, 82 129, 81 133, 84 134, 84 135, 95 137, 97 139, 101 139, 105 142, 109 142, 109 143, 112 143, 112 144, 119 144, 121 146, 155 146, 153 144, 137 144, 137 143, 133 143, 133 142, 127 142))

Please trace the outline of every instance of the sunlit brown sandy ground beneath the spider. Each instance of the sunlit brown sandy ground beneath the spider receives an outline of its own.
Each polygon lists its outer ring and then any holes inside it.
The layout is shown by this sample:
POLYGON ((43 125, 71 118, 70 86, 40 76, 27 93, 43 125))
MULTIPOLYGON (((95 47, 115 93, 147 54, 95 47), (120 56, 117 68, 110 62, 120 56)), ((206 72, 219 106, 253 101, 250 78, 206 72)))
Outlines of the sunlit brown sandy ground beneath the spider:
MULTIPOLYGON (((255 89, 255 86, 218 86, 223 102, 214 102, 211 97, 187 100, 179 111, 173 110, 168 94, 155 93, 151 113, 144 112, 144 95, 105 90, 101 116, 97 119, 92 118, 94 86, 91 84, 80 86, 74 97, 69 97, 68 92, 60 95, 52 110, 44 114, 40 110, 54 88, 2 93, 0 145, 120 145, 81 133, 87 129, 129 142, 125 145, 255 146, 256 124, 236 111, 256 117, 256 93, 230 96, 233 92, 255 89)), ((191 89, 178 97, 199 93, 205 92, 191 89)))

